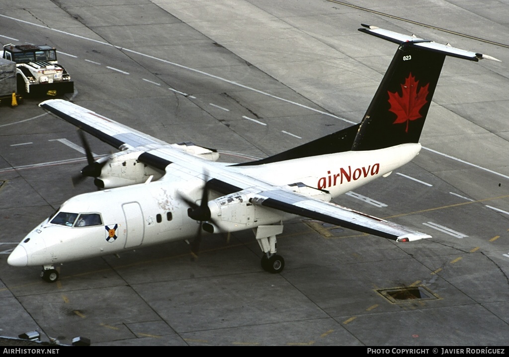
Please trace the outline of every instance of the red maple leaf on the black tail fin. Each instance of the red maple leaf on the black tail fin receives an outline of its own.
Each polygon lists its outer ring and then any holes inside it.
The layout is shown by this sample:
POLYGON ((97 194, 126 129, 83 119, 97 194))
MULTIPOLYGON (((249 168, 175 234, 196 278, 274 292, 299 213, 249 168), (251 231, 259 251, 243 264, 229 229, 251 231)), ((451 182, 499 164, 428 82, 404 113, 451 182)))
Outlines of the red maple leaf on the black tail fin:
POLYGON ((405 132, 408 133, 408 122, 410 120, 419 119, 422 115, 419 114, 419 110, 428 103, 426 97, 428 96, 428 86, 421 86, 419 91, 417 91, 417 85, 419 81, 415 80, 415 77, 412 77, 412 73, 408 75, 405 80, 405 84, 401 85, 401 91, 403 95, 400 96, 398 92, 389 92, 389 104, 390 109, 389 112, 392 112, 397 115, 396 120, 394 120, 393 124, 399 123, 407 123, 407 129, 405 132))

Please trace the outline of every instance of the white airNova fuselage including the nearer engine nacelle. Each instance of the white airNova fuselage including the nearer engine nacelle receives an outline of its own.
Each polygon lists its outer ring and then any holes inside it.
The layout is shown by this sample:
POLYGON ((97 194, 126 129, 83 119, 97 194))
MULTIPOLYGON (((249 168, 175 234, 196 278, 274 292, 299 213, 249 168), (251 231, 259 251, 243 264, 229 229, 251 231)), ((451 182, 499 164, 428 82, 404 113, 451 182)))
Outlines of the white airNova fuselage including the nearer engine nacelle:
POLYGON ((200 222, 188 217, 189 207, 181 197, 184 194, 199 203, 207 178, 196 172, 205 170, 211 177, 245 189, 243 195, 232 196, 228 202, 219 197, 221 195, 209 197, 218 232, 233 232, 295 217, 251 205, 249 195, 257 190, 274 187, 288 190, 287 185, 303 183, 328 191, 330 195, 324 195, 328 198, 323 199, 330 199, 390 173, 412 160, 419 150, 420 144, 403 144, 257 166, 225 166, 189 156, 192 169, 173 167, 158 181, 69 199, 59 213, 76 214, 77 218, 68 224, 52 223, 55 216, 44 220, 18 244, 8 263, 13 266, 50 265, 191 238, 196 235, 200 222), (91 214, 98 215, 100 221, 80 226, 81 215, 91 214))

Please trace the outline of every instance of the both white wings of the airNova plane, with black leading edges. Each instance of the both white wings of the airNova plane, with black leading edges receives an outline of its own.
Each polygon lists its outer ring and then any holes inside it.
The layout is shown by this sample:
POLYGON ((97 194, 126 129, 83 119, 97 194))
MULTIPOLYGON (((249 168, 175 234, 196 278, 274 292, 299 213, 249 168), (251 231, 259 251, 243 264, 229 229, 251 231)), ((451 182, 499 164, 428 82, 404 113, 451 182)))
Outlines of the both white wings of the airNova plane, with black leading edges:
MULTIPOLYGON (((166 172, 177 170, 179 176, 184 174, 183 168, 188 172, 189 177, 203 173, 202 161, 190 160, 185 152, 174 150, 172 145, 164 141, 69 101, 50 99, 43 101, 39 106, 119 150, 126 147, 140 147, 144 154, 140 155, 138 160, 153 167, 166 170, 166 172), (170 165, 172 163, 176 165, 170 165)), ((239 191, 248 192, 254 205, 341 225, 352 230, 397 241, 412 241, 431 237, 402 225, 314 198, 312 196, 316 196, 317 192, 323 194, 317 189, 309 188, 316 192, 302 194, 286 189, 286 187, 274 187, 256 179, 256 177, 231 171, 228 167, 216 166, 213 171, 214 177, 209 180, 212 189, 225 195, 239 191), (254 189, 254 187, 261 188, 261 190, 254 189)))

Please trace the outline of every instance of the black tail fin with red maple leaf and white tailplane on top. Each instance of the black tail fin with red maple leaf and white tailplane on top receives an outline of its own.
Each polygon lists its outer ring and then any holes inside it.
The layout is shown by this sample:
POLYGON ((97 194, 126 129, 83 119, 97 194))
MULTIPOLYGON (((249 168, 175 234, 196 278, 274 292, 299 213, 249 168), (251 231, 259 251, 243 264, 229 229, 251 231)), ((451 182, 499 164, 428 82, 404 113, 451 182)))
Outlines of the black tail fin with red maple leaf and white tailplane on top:
POLYGON ((361 121, 352 150, 375 150, 404 143, 417 143, 445 56, 478 61, 483 55, 368 25, 363 26, 367 28, 359 31, 398 43, 400 46, 361 121))

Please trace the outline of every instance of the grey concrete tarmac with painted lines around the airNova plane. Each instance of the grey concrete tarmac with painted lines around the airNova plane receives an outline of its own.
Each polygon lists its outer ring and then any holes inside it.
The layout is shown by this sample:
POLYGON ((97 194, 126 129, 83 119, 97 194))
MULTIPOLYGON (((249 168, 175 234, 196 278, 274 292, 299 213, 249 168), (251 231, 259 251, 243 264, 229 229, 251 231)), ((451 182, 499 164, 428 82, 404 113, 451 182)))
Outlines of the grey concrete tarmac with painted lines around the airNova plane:
POLYGON ((335 200, 433 238, 394 243, 296 219, 278 237, 286 267, 275 275, 261 269, 250 231, 204 238, 194 261, 177 242, 67 263, 55 284, 39 267, 8 266, 34 226, 95 187, 71 184, 86 165, 69 145, 79 145, 74 126, 42 111, 41 98, 1 107, 0 335, 38 330, 93 345, 506 345, 507 13, 504 2, 459 0, 0 4, 0 43, 57 47, 76 104, 168 143, 217 148, 229 162, 360 121, 397 49, 358 32, 360 23, 502 61, 447 58, 419 156, 335 200))

